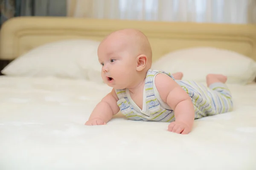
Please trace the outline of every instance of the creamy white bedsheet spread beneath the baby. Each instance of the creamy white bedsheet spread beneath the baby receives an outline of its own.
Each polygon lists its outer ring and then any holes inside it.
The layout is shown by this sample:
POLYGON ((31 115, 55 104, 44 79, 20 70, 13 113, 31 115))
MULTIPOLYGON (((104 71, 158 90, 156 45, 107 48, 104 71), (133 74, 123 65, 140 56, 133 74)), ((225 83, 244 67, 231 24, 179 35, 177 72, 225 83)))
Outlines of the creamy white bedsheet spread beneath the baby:
POLYGON ((1 76, 0 170, 255 170, 256 84, 229 86, 235 111, 180 135, 119 114, 85 126, 106 85, 1 76))

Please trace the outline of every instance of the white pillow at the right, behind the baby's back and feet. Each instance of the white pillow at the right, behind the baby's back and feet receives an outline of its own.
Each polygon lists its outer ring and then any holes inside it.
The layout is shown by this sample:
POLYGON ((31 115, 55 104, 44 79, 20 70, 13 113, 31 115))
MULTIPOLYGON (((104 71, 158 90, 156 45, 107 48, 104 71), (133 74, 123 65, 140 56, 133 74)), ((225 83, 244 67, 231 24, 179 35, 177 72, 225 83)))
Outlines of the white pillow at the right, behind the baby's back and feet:
POLYGON ((256 77, 256 62, 249 57, 212 47, 188 48, 170 52, 152 64, 170 73, 183 72, 183 79, 205 82, 207 74, 224 74, 227 83, 247 84, 256 77))

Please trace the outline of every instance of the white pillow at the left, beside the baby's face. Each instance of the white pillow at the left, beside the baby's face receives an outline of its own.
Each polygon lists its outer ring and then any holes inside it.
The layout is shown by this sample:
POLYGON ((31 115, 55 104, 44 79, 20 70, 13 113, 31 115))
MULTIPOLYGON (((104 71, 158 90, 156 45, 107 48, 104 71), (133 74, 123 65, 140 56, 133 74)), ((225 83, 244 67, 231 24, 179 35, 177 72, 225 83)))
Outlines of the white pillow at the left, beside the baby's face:
POLYGON ((62 40, 47 43, 21 55, 1 72, 8 76, 61 77, 102 82, 97 48, 99 41, 62 40), (82 61, 82 63, 81 63, 82 61))

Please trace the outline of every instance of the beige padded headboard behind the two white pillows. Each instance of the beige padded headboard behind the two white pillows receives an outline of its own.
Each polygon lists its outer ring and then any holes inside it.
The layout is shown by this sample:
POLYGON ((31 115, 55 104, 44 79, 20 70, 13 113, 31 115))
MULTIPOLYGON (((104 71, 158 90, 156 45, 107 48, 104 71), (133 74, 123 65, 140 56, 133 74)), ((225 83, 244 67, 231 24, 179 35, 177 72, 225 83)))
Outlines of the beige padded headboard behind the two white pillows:
POLYGON ((15 17, 0 31, 0 59, 15 59, 39 45, 67 39, 102 40, 122 28, 137 28, 150 40, 153 59, 195 46, 233 50, 256 60, 256 26, 168 23, 68 17, 15 17))

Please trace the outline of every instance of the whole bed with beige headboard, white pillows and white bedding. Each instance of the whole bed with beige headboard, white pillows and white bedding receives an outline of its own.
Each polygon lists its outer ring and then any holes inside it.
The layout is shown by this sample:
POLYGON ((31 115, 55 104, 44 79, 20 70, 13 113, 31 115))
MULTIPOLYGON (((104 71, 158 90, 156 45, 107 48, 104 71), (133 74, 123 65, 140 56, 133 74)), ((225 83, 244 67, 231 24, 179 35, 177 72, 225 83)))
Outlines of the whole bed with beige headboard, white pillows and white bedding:
POLYGON ((16 17, 1 29, 0 59, 13 60, 0 76, 1 170, 256 169, 256 26, 16 17), (209 71, 228 74, 234 110, 195 120, 188 135, 119 113, 85 126, 111 91, 97 45, 131 27, 148 36, 155 68, 202 83, 209 71))

